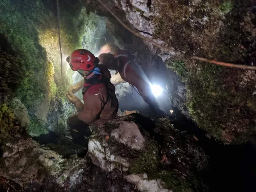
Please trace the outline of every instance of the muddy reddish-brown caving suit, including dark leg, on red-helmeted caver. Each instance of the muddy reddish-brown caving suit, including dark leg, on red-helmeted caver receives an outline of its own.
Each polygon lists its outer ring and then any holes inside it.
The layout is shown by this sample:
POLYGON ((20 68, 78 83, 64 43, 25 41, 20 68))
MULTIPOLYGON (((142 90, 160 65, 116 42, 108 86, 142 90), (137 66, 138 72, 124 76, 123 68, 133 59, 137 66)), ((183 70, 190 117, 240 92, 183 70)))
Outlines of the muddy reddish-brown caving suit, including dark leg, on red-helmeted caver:
MULTIPOLYGON (((85 80, 83 86, 83 111, 67 119, 72 137, 90 135, 88 126, 99 126, 116 118, 118 99, 115 86, 110 82, 111 74, 106 66, 101 66, 102 74, 94 74, 85 80)), ((73 137, 73 138, 74 138, 73 137)))

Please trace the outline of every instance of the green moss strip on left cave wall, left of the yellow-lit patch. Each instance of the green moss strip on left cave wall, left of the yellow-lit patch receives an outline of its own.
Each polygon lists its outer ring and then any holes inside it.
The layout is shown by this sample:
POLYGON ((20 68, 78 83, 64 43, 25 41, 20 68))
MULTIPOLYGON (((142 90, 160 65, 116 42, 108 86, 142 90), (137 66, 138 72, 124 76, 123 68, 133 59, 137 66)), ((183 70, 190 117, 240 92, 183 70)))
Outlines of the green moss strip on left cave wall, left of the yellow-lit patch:
POLYGON ((22 3, 3 0, 1 3, 0 34, 12 45, 26 71, 17 95, 26 107, 32 108, 35 100, 44 97, 42 73, 46 66, 46 52, 38 43, 38 32, 33 19, 48 19, 47 12, 44 12, 45 9, 38 0, 37 3, 29 0, 22 3))

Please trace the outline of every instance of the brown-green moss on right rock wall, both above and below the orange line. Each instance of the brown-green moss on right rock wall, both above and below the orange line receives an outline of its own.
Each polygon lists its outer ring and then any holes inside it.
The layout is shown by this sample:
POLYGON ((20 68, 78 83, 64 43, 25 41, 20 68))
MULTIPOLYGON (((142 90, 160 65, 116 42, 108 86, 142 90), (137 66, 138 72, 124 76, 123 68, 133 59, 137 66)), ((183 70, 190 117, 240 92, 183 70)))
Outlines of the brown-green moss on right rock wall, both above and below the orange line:
POLYGON ((185 105, 190 116, 210 135, 224 142, 255 140, 256 113, 252 102, 255 100, 255 71, 219 67, 190 57, 255 63, 251 57, 256 48, 253 4, 249 1, 173 3, 176 6, 157 4, 161 11, 156 18, 154 37, 183 51, 182 56, 166 61, 166 66, 186 84, 185 105))

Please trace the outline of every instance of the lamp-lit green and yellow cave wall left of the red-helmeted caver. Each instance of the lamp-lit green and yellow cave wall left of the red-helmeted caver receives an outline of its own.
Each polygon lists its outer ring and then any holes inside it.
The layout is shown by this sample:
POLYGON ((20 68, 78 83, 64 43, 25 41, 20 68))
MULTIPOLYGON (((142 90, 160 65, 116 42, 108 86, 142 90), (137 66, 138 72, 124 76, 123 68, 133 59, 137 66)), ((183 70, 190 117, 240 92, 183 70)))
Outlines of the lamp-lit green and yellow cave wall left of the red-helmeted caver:
MULTIPOLYGON (((15 115, 20 109, 10 105, 14 100, 17 101, 14 106, 21 102, 27 109, 25 116, 29 118, 29 124, 23 129, 31 137, 49 131, 66 134, 66 120, 75 108, 67 102, 65 92, 76 80, 66 57, 73 50, 82 48, 81 42, 86 36, 88 43, 92 42, 92 34, 100 25, 104 28, 103 20, 93 13, 88 14, 80 2, 60 3, 61 73, 56 1, 27 0, 21 3, 4 0, 0 6, 0 104, 1 116, 7 118, 2 125, 11 129, 20 124, 21 119, 15 115), (13 115, 16 123, 11 123, 13 115)), ((98 48, 95 41, 91 44, 98 48)), ((1 131, 1 138, 11 132, 8 128, 1 131)))

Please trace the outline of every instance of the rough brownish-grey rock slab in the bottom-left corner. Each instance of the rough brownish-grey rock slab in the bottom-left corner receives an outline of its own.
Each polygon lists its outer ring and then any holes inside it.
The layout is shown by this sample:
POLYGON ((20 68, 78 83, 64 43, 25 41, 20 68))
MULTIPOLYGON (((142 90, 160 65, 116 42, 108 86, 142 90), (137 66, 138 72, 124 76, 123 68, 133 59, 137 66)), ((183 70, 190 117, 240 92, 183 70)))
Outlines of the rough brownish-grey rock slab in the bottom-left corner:
POLYGON ((78 176, 86 167, 86 159, 77 156, 64 159, 32 139, 21 139, 16 143, 5 145, 2 149, 4 153, 0 175, 19 183, 29 183, 37 176, 43 180, 47 175, 42 173, 48 170, 48 176, 55 178, 60 185, 63 186, 68 178, 67 182, 73 186, 79 182, 78 176))

